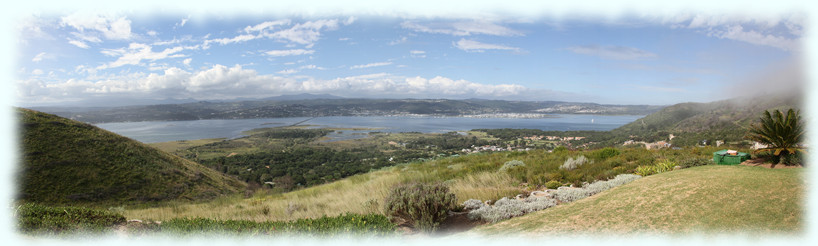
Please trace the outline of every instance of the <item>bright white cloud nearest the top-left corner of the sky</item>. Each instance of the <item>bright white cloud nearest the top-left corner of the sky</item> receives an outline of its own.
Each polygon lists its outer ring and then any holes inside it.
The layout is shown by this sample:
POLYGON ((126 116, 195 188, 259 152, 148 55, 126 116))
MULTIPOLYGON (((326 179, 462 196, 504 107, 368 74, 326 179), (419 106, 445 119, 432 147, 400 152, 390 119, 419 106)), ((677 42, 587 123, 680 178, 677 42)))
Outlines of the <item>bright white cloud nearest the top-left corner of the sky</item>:
POLYGON ((61 26, 70 26, 82 35, 102 35, 109 40, 128 40, 133 37, 131 21, 125 17, 85 15, 81 13, 64 16, 61 26))

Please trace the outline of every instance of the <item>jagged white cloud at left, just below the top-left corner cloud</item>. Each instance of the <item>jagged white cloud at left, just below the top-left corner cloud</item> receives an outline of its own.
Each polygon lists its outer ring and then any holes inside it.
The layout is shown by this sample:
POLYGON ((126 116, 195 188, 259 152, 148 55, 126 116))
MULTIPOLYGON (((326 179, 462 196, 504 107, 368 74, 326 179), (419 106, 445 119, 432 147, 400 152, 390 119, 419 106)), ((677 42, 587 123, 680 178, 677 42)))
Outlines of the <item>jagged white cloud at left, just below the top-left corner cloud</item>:
POLYGON ((152 47, 147 44, 140 44, 140 43, 131 43, 127 49, 120 48, 120 49, 103 49, 101 51, 102 54, 107 56, 115 56, 119 57, 116 61, 110 62, 105 65, 100 65, 97 69, 107 69, 107 68, 115 68, 121 67, 124 65, 137 65, 142 60, 150 60, 156 61, 166 58, 177 58, 177 57, 184 57, 183 54, 177 54, 185 48, 193 48, 193 47, 173 47, 167 48, 162 50, 161 52, 153 52, 152 47))

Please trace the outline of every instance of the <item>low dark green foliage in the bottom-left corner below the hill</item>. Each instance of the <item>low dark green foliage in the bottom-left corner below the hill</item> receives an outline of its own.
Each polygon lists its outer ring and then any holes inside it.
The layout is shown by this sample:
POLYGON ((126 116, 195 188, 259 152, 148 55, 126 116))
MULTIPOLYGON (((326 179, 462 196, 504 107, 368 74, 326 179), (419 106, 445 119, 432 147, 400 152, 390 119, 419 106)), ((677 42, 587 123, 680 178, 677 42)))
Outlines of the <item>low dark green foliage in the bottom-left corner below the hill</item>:
POLYGON ((16 215, 18 229, 26 234, 100 233, 125 223, 125 217, 110 211, 34 203, 18 206, 16 215))

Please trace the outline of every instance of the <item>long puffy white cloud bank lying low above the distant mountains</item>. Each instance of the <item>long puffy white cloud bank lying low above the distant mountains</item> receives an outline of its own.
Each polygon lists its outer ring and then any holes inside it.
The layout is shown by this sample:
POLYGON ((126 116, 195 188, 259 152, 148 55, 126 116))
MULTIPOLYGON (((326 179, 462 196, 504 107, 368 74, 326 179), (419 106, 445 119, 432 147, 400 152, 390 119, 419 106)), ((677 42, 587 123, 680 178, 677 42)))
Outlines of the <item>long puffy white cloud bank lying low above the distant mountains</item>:
MULTIPOLYGON (((307 65, 308 68, 312 67, 307 65)), ((317 66, 314 68, 318 68, 317 66)), ((78 68, 83 69, 83 68, 78 68)), ((282 70, 292 74, 297 69, 282 70)), ((117 98, 194 98, 197 100, 264 97, 270 94, 333 93, 379 98, 515 98, 540 95, 514 84, 490 85, 442 76, 430 79, 401 77, 387 73, 364 74, 335 79, 307 76, 280 77, 258 74, 240 65, 188 72, 169 67, 160 72, 132 73, 67 81, 46 82, 40 79, 17 82, 20 99, 32 102, 81 100, 89 97, 117 98)))

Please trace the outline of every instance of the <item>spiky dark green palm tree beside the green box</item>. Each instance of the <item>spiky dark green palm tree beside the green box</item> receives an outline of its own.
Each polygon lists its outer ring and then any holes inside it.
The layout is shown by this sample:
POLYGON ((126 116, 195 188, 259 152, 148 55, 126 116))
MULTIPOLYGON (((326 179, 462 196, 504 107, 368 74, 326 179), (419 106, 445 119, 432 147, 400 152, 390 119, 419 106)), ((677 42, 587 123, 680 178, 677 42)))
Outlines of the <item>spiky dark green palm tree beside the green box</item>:
POLYGON ((772 114, 764 110, 761 124, 751 126, 747 138, 766 144, 768 147, 758 149, 754 153, 772 152, 778 157, 779 163, 783 163, 788 155, 795 154, 796 151, 804 151, 798 146, 804 136, 804 128, 798 112, 790 109, 785 116, 778 110, 772 114))

